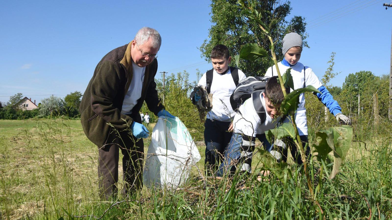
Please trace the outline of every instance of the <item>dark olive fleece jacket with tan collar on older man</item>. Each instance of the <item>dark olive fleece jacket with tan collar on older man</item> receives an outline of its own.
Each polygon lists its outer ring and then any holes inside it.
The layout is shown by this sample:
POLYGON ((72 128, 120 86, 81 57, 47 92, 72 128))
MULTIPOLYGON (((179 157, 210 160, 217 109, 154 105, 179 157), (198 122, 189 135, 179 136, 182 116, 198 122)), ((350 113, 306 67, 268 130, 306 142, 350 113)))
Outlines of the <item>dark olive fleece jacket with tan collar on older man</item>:
MULTIPOLYGON (((120 132, 128 129, 133 123, 131 117, 121 114, 123 100, 131 85, 133 75, 131 43, 110 51, 102 58, 95 68, 93 78, 80 103, 79 111, 83 131, 87 138, 98 147, 109 144, 107 141, 113 128, 120 132)), ((146 66, 142 97, 132 108, 132 113, 138 117, 140 117, 139 111, 143 101, 155 115, 164 108, 154 81, 157 69, 156 59, 146 66)))

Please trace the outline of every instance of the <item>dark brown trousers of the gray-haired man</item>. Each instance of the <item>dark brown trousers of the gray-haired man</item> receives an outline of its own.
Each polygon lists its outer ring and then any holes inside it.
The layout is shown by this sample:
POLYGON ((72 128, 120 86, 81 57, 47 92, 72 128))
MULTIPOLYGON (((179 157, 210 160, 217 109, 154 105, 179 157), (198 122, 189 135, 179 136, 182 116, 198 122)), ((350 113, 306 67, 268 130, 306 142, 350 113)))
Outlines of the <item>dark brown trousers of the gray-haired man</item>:
MULTIPOLYGON (((139 117, 135 115, 132 119, 142 123, 140 115, 139 117)), ((111 200, 116 196, 120 150, 123 155, 123 180, 125 182, 122 195, 125 197, 129 191, 143 186, 143 139, 136 140, 130 130, 119 132, 119 134, 112 133, 108 144, 98 150, 98 185, 100 198, 103 200, 111 200), (121 139, 116 136, 120 136, 121 139)))

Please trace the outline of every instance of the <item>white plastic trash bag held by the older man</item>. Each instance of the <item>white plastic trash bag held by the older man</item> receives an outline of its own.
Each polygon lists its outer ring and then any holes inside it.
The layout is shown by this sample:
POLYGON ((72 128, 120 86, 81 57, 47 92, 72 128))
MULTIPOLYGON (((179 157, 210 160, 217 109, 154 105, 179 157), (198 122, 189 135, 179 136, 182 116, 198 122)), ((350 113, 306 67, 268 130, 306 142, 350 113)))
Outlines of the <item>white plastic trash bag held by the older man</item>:
POLYGON ((191 134, 178 117, 161 116, 152 130, 143 170, 143 184, 176 188, 189 177, 201 157, 191 134))

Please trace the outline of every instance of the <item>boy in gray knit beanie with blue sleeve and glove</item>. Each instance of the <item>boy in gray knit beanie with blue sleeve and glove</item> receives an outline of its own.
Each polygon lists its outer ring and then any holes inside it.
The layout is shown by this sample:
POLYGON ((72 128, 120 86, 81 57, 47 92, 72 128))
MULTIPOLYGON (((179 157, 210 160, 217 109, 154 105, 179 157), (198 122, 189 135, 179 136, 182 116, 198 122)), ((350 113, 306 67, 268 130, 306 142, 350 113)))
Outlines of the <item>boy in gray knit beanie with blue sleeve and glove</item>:
MULTIPOLYGON (((291 88, 291 91, 298 88, 307 87, 312 85, 321 93, 317 93, 318 99, 329 109, 331 114, 336 117, 336 120, 343 121, 345 124, 351 124, 350 119, 343 115, 341 112, 341 107, 338 102, 334 100, 332 95, 328 92, 327 88, 325 88, 316 74, 312 71, 310 67, 299 63, 299 58, 301 58, 302 52, 302 37, 294 32, 286 34, 282 41, 282 52, 285 55, 285 58, 278 63, 279 71, 281 74, 284 74, 287 69, 291 68, 291 75, 294 81, 294 88, 291 88)), ((276 67, 269 67, 265 76, 278 76, 278 72, 276 71, 276 67)), ((299 105, 295 114, 295 122, 297 124, 298 132, 301 137, 301 141, 303 142, 303 146, 308 142, 308 127, 307 127, 307 119, 306 119, 306 109, 305 109, 305 96, 301 94, 299 96, 299 105)), ((291 138, 287 138, 283 140, 286 145, 290 146, 291 155, 298 164, 302 164, 301 155, 291 138)), ((288 147, 289 147, 288 146, 288 147)), ((287 160, 287 148, 286 151, 283 151, 283 161, 287 160)), ((309 155, 310 148, 305 151, 306 155, 309 155)))

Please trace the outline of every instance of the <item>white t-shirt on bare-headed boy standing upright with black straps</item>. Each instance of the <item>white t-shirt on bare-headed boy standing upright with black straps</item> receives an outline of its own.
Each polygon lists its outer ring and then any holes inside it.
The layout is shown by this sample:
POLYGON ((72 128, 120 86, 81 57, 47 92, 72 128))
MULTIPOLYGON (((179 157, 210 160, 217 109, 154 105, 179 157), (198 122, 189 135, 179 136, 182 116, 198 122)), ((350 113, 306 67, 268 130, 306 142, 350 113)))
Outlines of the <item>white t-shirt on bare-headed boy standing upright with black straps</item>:
MULTIPOLYGON (((207 86, 206 74, 201 76, 198 85, 207 86)), ((245 74, 238 70, 239 81, 245 79, 245 74)), ((207 113, 207 119, 218 121, 231 121, 235 113, 230 105, 230 96, 236 89, 236 84, 231 76, 230 68, 226 74, 221 75, 215 70, 212 75, 211 94, 212 95, 212 110, 207 113)))

